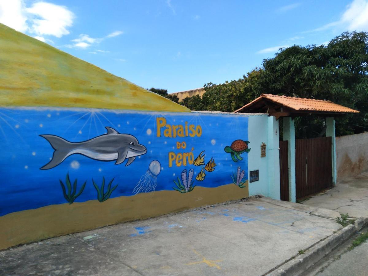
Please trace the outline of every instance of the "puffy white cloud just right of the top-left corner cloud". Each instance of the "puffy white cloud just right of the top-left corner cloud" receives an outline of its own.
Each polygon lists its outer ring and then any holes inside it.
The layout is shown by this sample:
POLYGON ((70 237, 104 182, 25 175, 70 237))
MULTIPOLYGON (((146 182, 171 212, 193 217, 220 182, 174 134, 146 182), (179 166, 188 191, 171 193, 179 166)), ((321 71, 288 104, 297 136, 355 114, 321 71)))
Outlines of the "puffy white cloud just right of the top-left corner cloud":
POLYGON ((53 35, 60 38, 68 35, 67 27, 73 24, 74 14, 67 7, 47 2, 37 2, 30 8, 26 8, 32 26, 31 33, 37 35, 53 35))

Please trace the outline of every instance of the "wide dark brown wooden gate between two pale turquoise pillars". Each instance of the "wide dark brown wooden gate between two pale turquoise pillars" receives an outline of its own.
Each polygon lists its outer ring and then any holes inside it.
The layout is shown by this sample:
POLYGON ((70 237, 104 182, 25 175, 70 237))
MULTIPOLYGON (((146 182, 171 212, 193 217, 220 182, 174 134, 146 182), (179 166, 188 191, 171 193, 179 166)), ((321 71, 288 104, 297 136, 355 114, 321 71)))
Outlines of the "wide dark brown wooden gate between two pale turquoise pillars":
POLYGON ((331 137, 295 140, 297 199, 332 187, 331 142, 331 137))

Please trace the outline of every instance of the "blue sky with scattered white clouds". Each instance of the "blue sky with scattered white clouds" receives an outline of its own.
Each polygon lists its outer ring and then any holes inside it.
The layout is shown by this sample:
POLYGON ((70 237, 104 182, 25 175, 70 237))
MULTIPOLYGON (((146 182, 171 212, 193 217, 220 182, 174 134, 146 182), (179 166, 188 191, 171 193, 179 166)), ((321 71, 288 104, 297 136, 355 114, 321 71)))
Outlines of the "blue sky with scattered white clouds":
POLYGON ((368 31, 368 0, 0 0, 0 22, 171 93, 240 78, 281 46, 368 31))

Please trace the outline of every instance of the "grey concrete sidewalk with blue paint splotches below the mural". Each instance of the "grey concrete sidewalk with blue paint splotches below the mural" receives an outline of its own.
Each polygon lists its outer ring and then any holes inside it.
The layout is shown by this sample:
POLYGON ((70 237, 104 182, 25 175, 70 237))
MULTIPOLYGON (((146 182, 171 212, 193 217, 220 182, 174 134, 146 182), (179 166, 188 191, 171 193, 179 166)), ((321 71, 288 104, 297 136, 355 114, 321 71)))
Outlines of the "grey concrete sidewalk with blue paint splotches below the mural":
POLYGON ((2 251, 0 275, 263 275, 341 229, 338 215, 252 197, 2 251))

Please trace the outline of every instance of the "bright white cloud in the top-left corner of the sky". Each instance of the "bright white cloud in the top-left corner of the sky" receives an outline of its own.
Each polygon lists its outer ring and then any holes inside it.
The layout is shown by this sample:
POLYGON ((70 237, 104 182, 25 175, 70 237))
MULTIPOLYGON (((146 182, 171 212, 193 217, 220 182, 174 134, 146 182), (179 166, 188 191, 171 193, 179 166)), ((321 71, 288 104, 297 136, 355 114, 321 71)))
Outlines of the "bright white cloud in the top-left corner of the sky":
POLYGON ((26 24, 27 16, 22 0, 0 0, 0 22, 25 32, 28 29, 26 24))

